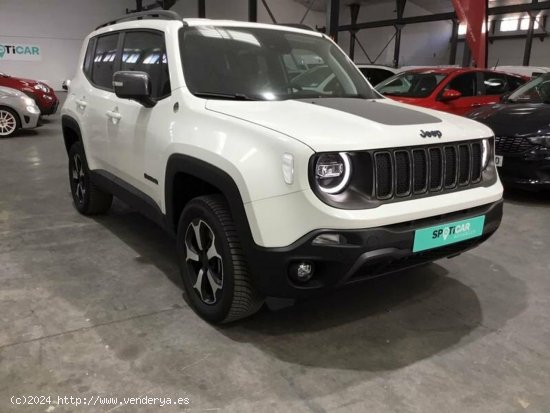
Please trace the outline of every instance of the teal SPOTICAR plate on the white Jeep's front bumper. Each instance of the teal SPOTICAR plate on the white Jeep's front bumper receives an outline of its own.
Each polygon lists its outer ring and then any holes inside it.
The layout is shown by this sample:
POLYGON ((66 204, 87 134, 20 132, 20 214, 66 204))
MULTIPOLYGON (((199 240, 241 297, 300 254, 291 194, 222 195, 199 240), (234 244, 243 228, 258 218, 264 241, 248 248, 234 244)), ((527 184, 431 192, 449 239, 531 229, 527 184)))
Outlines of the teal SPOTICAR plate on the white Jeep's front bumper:
POLYGON ((414 234, 413 252, 454 244, 483 235, 485 216, 419 229, 414 234))

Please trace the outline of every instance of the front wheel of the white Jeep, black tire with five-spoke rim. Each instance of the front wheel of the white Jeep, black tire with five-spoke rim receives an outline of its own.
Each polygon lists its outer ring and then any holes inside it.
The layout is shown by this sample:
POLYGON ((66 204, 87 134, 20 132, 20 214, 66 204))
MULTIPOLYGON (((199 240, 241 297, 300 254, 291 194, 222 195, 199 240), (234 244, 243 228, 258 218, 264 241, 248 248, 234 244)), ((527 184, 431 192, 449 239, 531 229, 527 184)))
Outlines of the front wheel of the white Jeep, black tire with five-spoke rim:
POLYGON ((177 235, 183 285, 193 310, 211 323, 257 312, 263 297, 247 271, 233 218, 220 195, 201 196, 184 208, 177 235))

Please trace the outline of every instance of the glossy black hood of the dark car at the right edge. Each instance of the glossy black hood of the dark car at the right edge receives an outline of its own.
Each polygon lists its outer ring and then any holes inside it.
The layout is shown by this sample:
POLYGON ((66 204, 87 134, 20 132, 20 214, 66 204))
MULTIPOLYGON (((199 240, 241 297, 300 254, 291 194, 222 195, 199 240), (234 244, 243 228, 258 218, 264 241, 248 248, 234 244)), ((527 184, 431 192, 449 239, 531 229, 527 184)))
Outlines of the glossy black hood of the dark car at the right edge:
POLYGON ((468 117, 489 126, 496 136, 528 136, 550 133, 550 104, 507 103, 486 106, 468 117))

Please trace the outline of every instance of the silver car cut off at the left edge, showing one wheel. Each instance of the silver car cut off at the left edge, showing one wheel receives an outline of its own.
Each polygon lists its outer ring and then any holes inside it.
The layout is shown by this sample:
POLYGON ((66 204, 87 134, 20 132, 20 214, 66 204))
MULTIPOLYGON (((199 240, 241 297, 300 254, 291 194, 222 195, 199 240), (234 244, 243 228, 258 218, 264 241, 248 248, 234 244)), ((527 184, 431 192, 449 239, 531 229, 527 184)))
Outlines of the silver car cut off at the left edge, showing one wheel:
POLYGON ((0 138, 38 126, 40 109, 23 92, 0 86, 0 138))

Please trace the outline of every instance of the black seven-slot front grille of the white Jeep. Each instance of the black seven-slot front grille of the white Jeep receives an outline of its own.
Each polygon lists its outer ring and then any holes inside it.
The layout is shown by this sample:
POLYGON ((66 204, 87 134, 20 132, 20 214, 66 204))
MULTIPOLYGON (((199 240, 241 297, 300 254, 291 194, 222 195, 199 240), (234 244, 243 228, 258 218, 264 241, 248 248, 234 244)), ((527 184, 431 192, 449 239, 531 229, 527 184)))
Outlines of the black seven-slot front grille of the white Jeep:
POLYGON ((375 151, 374 197, 407 197, 479 183, 481 152, 480 141, 375 151))

